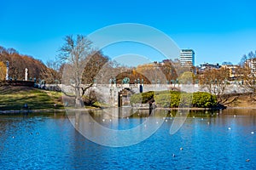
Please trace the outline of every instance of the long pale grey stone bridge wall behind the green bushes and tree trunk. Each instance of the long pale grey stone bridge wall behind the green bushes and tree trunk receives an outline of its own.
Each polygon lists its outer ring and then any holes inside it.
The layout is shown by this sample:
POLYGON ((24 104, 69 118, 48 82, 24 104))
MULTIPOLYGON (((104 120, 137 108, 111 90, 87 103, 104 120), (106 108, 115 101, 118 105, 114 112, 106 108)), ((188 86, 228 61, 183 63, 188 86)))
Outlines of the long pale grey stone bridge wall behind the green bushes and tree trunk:
MULTIPOLYGON (((71 86, 59 85, 65 92, 74 93, 71 86)), ((85 85, 86 86, 86 85, 85 85)), ((97 99, 100 99, 104 103, 108 103, 113 106, 130 105, 131 94, 139 94, 141 91, 163 91, 163 90, 181 90, 187 93, 193 92, 207 92, 207 89, 201 88, 198 84, 184 85, 184 84, 95 84, 90 89, 96 91, 97 99), (141 87, 143 88, 141 88, 141 87), (126 89, 126 92, 124 91, 126 89), (127 92, 127 90, 129 92, 127 92), (126 93, 126 94, 125 94, 126 93), (121 95, 121 98, 119 98, 121 95)), ((239 85, 230 84, 225 94, 232 93, 245 93, 247 92, 244 88, 239 85)))

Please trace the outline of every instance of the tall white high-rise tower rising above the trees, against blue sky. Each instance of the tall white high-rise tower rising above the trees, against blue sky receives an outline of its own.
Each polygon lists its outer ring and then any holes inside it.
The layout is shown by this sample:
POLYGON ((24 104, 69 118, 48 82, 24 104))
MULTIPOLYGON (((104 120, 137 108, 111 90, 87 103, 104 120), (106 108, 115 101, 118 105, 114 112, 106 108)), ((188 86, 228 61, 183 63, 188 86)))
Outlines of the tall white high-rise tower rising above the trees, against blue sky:
POLYGON ((193 49, 182 49, 180 51, 180 62, 182 66, 195 65, 195 52, 193 49))

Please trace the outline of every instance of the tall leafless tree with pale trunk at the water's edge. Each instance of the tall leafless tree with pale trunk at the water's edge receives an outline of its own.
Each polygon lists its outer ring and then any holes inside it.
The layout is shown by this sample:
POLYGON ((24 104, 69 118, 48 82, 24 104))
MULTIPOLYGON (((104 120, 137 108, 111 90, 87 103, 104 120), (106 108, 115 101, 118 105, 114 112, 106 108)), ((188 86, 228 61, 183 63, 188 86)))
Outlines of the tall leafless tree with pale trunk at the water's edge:
MULTIPOLYGON (((84 72, 84 65, 87 58, 93 54, 92 42, 82 35, 76 38, 67 36, 61 47, 59 59, 66 63, 62 75, 62 83, 71 84, 75 93, 75 105, 81 106, 81 83, 84 72)), ((91 83, 90 83, 91 86, 91 83)))

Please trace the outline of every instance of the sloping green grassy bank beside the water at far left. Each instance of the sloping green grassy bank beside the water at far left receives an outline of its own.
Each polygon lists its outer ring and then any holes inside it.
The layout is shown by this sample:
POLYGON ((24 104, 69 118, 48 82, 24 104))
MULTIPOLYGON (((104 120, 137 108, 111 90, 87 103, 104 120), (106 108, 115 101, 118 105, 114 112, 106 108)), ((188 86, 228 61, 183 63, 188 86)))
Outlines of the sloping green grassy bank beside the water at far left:
POLYGON ((0 87, 0 111, 64 109, 61 93, 22 86, 0 87))

